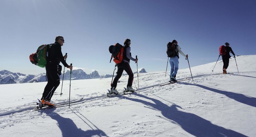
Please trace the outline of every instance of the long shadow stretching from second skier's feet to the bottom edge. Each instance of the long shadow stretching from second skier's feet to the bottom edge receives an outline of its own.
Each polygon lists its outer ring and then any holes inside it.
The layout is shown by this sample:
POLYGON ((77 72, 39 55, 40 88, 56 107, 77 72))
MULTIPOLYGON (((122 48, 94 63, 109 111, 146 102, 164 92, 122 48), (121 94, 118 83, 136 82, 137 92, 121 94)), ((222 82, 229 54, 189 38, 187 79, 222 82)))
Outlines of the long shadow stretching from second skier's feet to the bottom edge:
POLYGON ((161 117, 167 121, 179 125, 186 132, 194 136, 246 136, 234 130, 226 129, 224 127, 212 124, 210 121, 193 113, 180 111, 177 109, 177 107, 181 107, 174 103, 172 103, 171 106, 168 106, 167 104, 164 104, 157 99, 142 94, 134 93, 134 95, 143 97, 148 100, 152 100, 154 103, 137 98, 125 98, 132 101, 143 103, 151 109, 161 111, 164 117, 160 115, 158 115, 158 117, 161 117))

